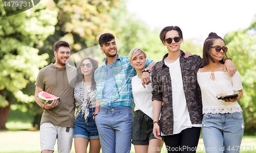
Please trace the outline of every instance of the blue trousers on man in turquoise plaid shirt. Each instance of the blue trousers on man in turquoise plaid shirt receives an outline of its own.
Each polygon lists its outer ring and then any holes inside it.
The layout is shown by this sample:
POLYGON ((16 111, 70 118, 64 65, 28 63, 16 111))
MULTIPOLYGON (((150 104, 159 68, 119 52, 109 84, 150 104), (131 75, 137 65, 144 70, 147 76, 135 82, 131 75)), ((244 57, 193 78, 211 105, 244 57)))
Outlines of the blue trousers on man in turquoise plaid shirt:
POLYGON ((131 107, 100 108, 95 122, 103 153, 130 152, 133 126, 131 107))

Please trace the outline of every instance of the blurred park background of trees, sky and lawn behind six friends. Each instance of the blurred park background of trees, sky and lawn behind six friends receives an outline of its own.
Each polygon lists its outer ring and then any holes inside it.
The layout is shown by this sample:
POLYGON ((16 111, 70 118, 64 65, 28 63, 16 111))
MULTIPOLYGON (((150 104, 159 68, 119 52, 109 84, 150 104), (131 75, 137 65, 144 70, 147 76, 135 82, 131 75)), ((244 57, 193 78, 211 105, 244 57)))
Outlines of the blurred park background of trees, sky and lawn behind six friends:
MULTIPOLYGON (((38 125, 43 110, 34 101, 34 82, 39 69, 55 62, 56 41, 69 42, 74 54, 97 46, 99 36, 110 32, 119 54, 141 48, 149 59, 159 61, 167 53, 159 39, 166 26, 182 29, 181 49, 192 54, 202 55, 210 32, 224 38, 243 84, 242 144, 254 144, 256 150, 255 1, 41 0, 34 8, 9 17, 2 4, 0 0, 0 152, 22 152, 12 150, 19 146, 27 146, 24 152, 40 150, 38 125)), ((103 62, 103 55, 87 54, 103 62)))

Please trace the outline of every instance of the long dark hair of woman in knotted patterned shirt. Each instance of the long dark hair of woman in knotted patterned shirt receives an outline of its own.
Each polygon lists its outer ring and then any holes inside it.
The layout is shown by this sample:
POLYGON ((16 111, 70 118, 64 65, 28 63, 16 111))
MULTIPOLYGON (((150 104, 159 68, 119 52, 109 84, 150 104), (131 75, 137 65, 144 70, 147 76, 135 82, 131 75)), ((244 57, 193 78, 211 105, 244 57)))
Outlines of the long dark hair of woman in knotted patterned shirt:
MULTIPOLYGON (((98 61, 97 60, 93 59, 92 57, 84 57, 81 60, 81 62, 79 64, 79 67, 77 68, 77 73, 78 73, 77 82, 81 82, 83 80, 83 75, 82 75, 82 72, 81 72, 81 64, 86 59, 89 59, 91 61, 94 71, 98 68, 98 61)), ((92 90, 95 91, 96 90, 96 82, 95 82, 95 79, 94 79, 94 72, 93 72, 93 75, 92 75, 91 85, 92 85, 92 90)))

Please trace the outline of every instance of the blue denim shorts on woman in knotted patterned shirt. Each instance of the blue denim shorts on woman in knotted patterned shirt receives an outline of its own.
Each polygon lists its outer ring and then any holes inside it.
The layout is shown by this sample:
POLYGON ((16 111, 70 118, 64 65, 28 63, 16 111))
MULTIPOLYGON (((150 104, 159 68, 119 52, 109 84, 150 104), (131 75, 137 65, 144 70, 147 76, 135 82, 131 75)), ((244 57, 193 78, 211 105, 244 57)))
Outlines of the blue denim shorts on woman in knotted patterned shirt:
POLYGON ((78 117, 75 120, 75 129, 74 129, 74 138, 86 138, 90 139, 99 139, 99 133, 96 126, 96 123, 93 119, 93 113, 95 112, 95 107, 89 108, 89 116, 87 122, 84 120, 84 115, 79 113, 78 117))

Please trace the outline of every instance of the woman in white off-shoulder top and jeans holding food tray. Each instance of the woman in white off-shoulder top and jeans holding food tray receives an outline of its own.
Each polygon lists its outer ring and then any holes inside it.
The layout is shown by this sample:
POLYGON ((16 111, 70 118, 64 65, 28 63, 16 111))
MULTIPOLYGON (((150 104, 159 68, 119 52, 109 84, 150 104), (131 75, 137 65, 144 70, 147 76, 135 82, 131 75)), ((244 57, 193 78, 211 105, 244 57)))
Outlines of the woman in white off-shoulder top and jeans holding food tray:
POLYGON ((231 78, 224 70, 227 47, 216 33, 204 41, 202 69, 198 70, 203 103, 202 134, 206 152, 239 152, 244 132, 242 110, 237 102, 242 95, 239 72, 231 78), (239 91, 236 98, 218 99, 218 94, 239 91))

